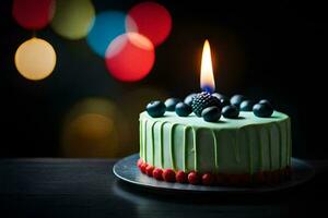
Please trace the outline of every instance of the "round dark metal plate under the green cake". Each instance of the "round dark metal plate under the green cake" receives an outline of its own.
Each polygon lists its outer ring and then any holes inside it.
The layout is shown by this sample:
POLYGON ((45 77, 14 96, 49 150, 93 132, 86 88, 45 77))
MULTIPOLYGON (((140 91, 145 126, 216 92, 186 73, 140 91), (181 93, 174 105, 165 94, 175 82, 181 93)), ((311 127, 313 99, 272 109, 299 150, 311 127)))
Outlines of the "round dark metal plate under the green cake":
POLYGON ((272 184, 272 185, 260 185, 251 187, 237 187, 237 186, 206 186, 206 185, 192 185, 192 184, 181 184, 181 183, 169 183, 165 181, 157 181, 154 178, 148 177, 140 172, 137 167, 137 160, 139 159, 139 154, 134 154, 125 157, 117 161, 113 167, 113 172, 119 179, 140 185, 147 189, 159 190, 159 191, 174 191, 174 192, 224 192, 224 193, 263 193, 282 191, 290 187, 300 185, 308 180, 311 180, 315 171, 311 165, 306 161, 292 158, 292 178, 289 181, 272 184))

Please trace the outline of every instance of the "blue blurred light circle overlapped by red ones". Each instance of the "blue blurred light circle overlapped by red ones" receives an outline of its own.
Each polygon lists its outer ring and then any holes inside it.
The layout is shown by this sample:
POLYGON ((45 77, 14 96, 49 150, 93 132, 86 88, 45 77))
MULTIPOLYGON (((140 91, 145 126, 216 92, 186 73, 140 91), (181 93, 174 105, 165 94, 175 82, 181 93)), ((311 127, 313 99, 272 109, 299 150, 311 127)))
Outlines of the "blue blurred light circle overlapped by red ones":
MULTIPOLYGON (((105 11, 96 15, 93 27, 86 37, 89 46, 95 53, 103 58, 105 57, 110 41, 126 33, 126 19, 129 17, 119 11, 105 11)), ((131 23, 131 28, 136 29, 133 21, 129 23, 131 23)))

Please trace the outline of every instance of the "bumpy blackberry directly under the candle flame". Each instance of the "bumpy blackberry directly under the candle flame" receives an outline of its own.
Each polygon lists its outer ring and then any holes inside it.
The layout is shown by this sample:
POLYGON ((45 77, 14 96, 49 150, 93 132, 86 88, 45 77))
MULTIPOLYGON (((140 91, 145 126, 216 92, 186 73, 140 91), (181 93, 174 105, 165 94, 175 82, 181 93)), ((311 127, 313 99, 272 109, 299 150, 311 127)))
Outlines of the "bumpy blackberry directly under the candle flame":
POLYGON ((221 102, 219 98, 207 92, 197 94, 191 102, 192 111, 197 117, 201 117, 202 110, 211 106, 216 106, 221 110, 221 102))

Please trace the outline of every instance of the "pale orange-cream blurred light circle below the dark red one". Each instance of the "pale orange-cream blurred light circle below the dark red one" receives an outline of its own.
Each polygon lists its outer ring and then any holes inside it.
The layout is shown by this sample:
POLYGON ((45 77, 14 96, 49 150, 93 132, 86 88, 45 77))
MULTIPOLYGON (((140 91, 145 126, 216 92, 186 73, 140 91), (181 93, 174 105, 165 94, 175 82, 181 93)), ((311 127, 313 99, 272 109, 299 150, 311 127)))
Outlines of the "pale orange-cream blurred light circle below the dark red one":
POLYGON ((49 76, 55 69, 56 52, 48 41, 34 37, 17 48, 15 65, 25 78, 43 80, 49 76))

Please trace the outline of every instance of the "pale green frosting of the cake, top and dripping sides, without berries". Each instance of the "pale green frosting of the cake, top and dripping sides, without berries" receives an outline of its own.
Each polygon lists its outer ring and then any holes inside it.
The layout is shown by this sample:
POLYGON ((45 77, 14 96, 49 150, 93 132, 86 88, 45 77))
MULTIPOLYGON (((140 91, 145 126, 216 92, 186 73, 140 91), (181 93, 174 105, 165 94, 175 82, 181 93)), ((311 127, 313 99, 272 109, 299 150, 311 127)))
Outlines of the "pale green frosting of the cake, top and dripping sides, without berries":
POLYGON ((154 168, 262 177, 284 174, 291 166, 291 120, 282 112, 259 118, 241 111, 237 119, 218 122, 206 122, 194 113, 185 118, 166 111, 153 118, 142 112, 139 121, 140 158, 154 168))

